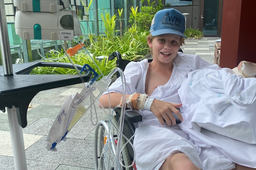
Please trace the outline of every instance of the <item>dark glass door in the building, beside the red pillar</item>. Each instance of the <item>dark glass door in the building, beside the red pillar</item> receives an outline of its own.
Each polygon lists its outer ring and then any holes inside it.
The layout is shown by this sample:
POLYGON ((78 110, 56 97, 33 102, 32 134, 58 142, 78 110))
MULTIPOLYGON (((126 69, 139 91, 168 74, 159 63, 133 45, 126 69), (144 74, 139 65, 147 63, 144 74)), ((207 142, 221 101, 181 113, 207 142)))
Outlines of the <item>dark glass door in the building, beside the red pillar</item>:
POLYGON ((199 29, 205 37, 220 37, 223 0, 200 0, 199 29))

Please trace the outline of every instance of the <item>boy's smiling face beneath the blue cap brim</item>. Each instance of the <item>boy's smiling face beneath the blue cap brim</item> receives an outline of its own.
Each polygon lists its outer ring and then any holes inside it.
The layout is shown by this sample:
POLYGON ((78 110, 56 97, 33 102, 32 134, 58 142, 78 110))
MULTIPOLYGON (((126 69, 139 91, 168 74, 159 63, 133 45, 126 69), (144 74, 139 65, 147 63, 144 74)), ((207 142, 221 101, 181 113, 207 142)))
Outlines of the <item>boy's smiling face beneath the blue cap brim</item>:
POLYGON ((176 34, 157 35, 148 46, 152 49, 153 58, 162 63, 169 63, 176 57, 180 48, 181 36, 176 34))

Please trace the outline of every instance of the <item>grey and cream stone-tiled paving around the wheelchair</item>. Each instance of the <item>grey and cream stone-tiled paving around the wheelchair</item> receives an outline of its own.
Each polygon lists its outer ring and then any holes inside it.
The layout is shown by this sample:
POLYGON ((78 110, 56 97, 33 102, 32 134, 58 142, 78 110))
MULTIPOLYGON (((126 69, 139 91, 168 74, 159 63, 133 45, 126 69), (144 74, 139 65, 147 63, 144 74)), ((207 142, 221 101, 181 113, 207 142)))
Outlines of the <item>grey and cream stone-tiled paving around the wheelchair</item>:
MULTIPOLYGON (((186 40, 181 49, 186 54, 197 54, 214 64, 214 45, 219 38, 186 40)), ((57 152, 45 149, 46 136, 65 99, 82 89, 73 85, 39 92, 28 109, 28 125, 23 128, 28 170, 92 170, 94 169, 94 128, 90 111, 68 133, 67 141, 57 145, 57 152)), ((98 119, 102 109, 96 108, 98 119)), ((95 115, 92 118, 96 122, 95 115)), ((14 170, 7 112, 0 111, 0 169, 14 170)))

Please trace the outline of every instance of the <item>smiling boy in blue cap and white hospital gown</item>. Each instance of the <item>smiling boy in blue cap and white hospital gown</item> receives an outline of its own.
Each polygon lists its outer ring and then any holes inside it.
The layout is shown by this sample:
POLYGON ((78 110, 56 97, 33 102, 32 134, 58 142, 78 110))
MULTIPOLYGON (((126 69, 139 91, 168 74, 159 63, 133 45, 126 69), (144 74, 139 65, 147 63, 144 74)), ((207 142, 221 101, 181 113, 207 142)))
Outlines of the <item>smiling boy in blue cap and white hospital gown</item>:
MULTIPOLYGON (((187 78, 187 73, 211 66, 199 56, 178 52, 186 38, 184 31, 183 14, 175 9, 158 11, 147 37, 153 61, 148 63, 148 59, 144 59, 130 62, 124 71, 126 107, 139 110, 143 115, 143 122, 136 126, 133 143, 138 170, 235 168, 235 163, 221 152, 214 148, 197 147, 193 141, 189 141, 187 133, 175 126, 172 113, 183 121, 176 108, 182 106, 178 89, 187 78), (207 153, 211 153, 210 158, 206 158, 207 153)), ((220 69, 217 65, 214 67, 220 69)), ((103 107, 122 105, 122 89, 119 77, 109 87, 110 94, 106 92, 100 97, 103 107)))

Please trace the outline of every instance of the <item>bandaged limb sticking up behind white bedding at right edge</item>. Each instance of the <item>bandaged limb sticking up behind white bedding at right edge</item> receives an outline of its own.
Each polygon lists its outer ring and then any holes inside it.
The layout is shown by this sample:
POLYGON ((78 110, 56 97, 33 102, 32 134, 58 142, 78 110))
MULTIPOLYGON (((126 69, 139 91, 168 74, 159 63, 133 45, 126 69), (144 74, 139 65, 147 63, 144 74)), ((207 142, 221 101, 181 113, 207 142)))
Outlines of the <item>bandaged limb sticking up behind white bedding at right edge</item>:
POLYGON ((241 61, 237 67, 232 69, 237 75, 244 78, 256 77, 256 64, 248 61, 241 61))

